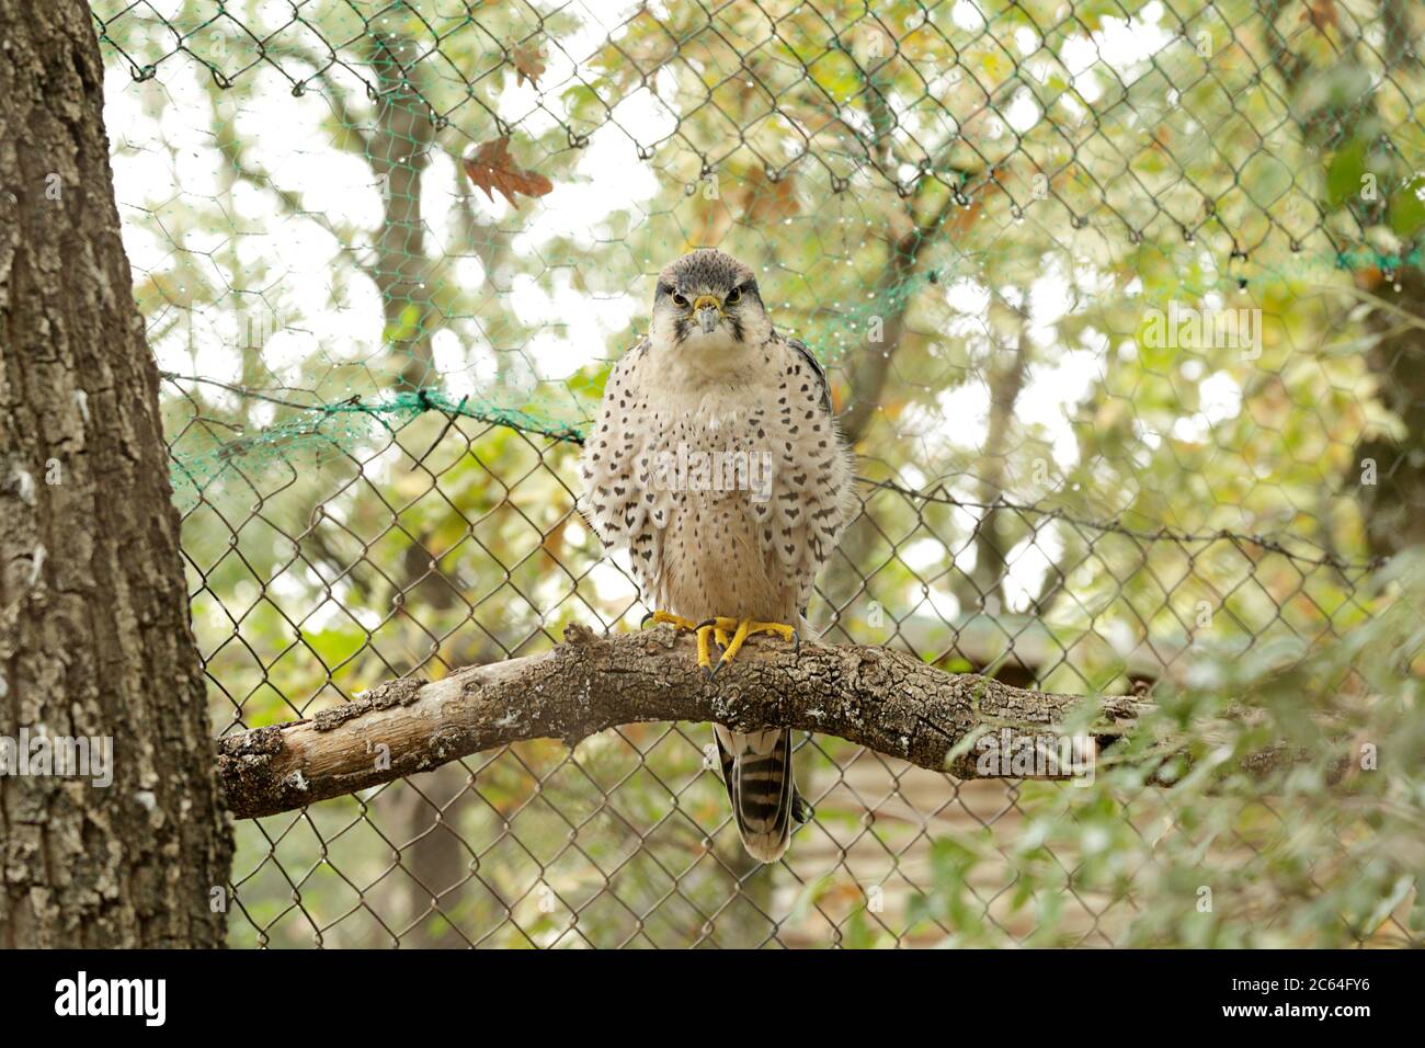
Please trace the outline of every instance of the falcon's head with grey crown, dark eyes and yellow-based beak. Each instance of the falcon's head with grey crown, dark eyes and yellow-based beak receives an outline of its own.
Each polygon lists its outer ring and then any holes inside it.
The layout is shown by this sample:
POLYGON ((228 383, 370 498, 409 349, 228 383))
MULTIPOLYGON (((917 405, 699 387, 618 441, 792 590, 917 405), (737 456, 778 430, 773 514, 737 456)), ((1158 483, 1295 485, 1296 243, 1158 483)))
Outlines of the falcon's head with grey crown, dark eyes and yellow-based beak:
POLYGON ((751 268, 715 248, 668 262, 653 297, 653 337, 698 356, 755 348, 771 321, 751 268))

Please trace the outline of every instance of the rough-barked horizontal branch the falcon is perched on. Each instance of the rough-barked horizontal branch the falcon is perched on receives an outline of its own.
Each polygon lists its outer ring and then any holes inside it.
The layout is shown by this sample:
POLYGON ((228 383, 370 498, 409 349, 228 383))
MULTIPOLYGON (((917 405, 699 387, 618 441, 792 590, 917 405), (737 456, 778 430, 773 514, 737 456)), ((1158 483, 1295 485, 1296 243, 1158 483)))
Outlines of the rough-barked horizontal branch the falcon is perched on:
POLYGON ((973 750, 950 759, 970 733, 1053 736, 1086 702, 1099 706, 1100 743, 1143 709, 1131 696, 1029 692, 942 673, 886 647, 815 642, 795 654, 778 642, 750 643, 708 682, 693 639, 673 627, 601 637, 570 626, 564 643, 543 654, 470 666, 433 683, 403 677, 312 719, 221 739, 218 774, 232 813, 254 818, 504 743, 563 739, 573 747, 618 724, 693 720, 818 731, 975 779, 973 750))

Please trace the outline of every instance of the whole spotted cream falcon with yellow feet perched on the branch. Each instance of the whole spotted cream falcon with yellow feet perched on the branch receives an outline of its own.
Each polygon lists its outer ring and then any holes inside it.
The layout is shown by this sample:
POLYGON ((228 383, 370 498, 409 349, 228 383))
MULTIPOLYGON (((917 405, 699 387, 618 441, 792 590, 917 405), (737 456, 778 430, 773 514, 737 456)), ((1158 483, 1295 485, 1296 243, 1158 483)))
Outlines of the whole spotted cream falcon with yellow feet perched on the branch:
MULTIPOLYGON (((695 633, 711 679, 750 637, 795 650, 812 636, 812 586, 855 502, 852 453, 825 371, 772 325, 748 265, 698 248, 658 272, 647 337, 608 374, 580 479, 604 548, 628 555, 644 622, 695 633)), ((812 816, 791 730, 714 724, 714 739, 742 846, 775 863, 792 820, 812 816)))

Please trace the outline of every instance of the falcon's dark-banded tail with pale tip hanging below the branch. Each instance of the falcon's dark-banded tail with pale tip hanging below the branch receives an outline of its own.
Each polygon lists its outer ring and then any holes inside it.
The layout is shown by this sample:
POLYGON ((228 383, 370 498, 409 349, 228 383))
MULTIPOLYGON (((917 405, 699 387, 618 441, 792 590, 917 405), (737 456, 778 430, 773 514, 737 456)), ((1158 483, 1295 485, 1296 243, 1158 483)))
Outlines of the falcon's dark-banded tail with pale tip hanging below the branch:
POLYGON ((792 777, 791 729, 742 734, 714 724, 712 733, 742 847, 760 863, 775 863, 791 841, 792 820, 811 818, 792 777))

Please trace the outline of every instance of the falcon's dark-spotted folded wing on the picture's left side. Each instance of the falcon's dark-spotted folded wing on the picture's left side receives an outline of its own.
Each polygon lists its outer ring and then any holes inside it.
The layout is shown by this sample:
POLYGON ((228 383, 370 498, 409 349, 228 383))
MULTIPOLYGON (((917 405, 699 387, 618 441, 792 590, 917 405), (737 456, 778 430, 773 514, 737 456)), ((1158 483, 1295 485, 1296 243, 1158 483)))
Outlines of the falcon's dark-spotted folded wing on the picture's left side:
POLYGON ((580 509, 608 549, 627 549, 634 577, 651 593, 663 562, 667 492, 650 483, 650 458, 663 425, 647 389, 648 339, 614 365, 589 436, 580 509))

